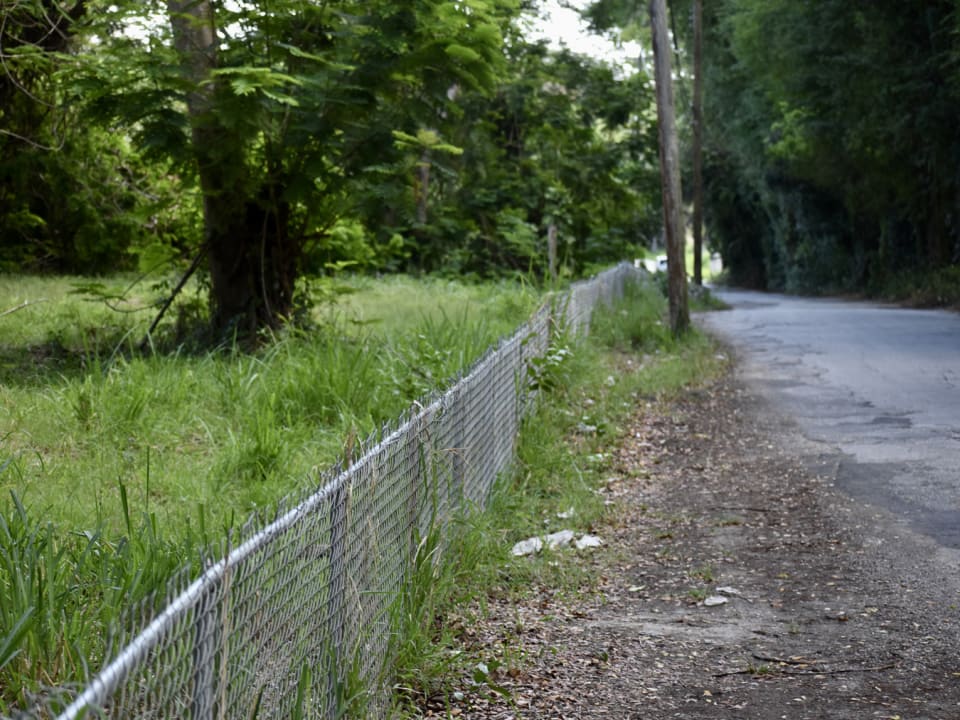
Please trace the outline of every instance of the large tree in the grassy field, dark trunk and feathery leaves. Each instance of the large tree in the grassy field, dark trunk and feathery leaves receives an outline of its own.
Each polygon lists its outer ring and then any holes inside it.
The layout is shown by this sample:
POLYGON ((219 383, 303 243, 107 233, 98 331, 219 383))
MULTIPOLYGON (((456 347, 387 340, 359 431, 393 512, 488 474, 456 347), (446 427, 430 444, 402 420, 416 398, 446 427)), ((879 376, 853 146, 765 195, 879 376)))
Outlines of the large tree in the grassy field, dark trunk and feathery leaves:
POLYGON ((305 250, 391 129, 442 117, 454 85, 493 86, 516 12, 513 0, 130 2, 93 29, 104 52, 81 85, 100 117, 195 169, 213 324, 249 335, 290 315, 305 250))

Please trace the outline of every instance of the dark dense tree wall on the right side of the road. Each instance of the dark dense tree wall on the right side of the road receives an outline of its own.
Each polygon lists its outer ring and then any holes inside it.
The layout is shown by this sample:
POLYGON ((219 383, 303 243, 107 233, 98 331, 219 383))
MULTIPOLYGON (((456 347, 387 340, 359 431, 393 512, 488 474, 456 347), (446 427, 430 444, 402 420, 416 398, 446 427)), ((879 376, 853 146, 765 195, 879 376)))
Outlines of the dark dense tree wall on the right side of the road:
POLYGON ((960 6, 708 6, 707 211, 732 279, 871 289, 960 259, 960 6))

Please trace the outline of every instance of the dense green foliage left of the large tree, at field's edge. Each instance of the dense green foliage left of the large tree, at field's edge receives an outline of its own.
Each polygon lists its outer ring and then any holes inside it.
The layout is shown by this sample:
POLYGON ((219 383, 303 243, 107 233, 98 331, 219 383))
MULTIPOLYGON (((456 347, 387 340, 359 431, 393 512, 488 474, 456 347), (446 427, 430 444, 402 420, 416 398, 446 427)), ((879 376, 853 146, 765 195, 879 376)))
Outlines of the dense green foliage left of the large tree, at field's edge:
POLYGON ((127 138, 88 124, 65 102, 83 3, 24 0, 0 7, 0 271, 102 272, 170 242, 195 223, 180 184, 127 138))

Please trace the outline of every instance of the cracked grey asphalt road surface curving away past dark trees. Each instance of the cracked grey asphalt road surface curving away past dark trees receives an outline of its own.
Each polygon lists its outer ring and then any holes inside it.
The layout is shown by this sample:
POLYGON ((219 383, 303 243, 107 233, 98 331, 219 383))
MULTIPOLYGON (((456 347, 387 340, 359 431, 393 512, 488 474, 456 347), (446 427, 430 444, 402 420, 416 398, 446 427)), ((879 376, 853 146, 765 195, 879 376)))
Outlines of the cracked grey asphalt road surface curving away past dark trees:
POLYGON ((745 291, 697 322, 858 501, 960 549, 960 315, 745 291))

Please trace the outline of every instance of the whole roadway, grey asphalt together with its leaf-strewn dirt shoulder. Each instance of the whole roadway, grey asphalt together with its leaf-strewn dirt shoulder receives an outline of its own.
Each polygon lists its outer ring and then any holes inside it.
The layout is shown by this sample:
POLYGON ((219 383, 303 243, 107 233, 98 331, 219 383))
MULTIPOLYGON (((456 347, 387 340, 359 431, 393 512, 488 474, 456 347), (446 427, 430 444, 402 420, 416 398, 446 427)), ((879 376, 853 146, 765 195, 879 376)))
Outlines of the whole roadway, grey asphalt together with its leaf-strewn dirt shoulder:
POLYGON ((463 611, 506 670, 425 716, 960 717, 960 316, 719 295, 732 361, 609 438, 590 581, 463 611))

